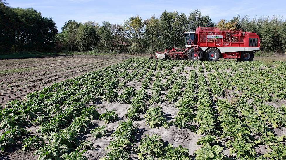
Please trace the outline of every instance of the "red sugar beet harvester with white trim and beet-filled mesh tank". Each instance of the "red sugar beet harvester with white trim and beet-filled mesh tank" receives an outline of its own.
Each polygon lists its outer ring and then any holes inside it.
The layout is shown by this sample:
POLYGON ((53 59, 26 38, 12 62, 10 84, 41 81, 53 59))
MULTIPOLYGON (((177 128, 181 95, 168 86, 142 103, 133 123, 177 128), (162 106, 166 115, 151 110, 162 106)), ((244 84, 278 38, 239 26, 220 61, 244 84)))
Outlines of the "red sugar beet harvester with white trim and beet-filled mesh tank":
POLYGON ((150 58, 217 61, 218 58, 236 58, 238 61, 252 61, 254 52, 260 49, 256 33, 239 29, 198 27, 196 32, 181 33, 185 39, 185 49, 172 47, 164 52, 156 52, 150 58))

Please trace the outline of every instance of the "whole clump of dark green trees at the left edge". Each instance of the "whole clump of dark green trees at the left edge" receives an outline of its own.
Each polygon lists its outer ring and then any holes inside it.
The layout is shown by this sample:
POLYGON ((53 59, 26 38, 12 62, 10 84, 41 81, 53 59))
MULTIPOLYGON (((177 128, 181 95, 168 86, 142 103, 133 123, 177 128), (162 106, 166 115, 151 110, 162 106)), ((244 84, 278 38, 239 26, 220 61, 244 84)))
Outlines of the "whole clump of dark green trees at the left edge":
POLYGON ((11 8, 0 0, 0 52, 49 51, 58 30, 33 8, 11 8))

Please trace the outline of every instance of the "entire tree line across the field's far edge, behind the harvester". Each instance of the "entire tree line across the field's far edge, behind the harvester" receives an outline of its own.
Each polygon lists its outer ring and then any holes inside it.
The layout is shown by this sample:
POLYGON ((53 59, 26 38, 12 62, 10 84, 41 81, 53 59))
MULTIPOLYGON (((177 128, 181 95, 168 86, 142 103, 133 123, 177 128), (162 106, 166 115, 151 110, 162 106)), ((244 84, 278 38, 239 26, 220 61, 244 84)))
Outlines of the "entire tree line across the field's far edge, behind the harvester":
POLYGON ((283 17, 264 16, 221 19, 215 23, 200 10, 184 13, 164 11, 142 19, 128 17, 123 24, 67 21, 58 33, 51 18, 43 17, 33 8, 11 8, 0 0, 0 52, 11 51, 71 51, 94 53, 152 53, 164 48, 184 47, 180 33, 197 27, 240 28, 257 33, 261 50, 286 52, 286 22, 283 17))

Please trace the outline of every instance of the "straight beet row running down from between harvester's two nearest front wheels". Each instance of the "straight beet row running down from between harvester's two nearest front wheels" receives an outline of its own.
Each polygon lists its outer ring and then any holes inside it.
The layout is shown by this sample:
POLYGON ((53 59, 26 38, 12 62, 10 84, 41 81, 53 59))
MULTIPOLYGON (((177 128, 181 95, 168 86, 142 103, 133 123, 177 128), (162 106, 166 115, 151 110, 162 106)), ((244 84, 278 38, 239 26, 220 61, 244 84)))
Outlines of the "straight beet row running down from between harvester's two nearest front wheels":
POLYGON ((194 121, 199 125, 197 134, 205 134, 201 137, 197 145, 202 145, 201 148, 194 152, 195 159, 216 159, 223 160, 223 147, 218 144, 218 139, 215 134, 216 130, 216 118, 215 110, 212 108, 211 97, 203 74, 203 67, 199 66, 198 80, 197 80, 197 115, 194 121))

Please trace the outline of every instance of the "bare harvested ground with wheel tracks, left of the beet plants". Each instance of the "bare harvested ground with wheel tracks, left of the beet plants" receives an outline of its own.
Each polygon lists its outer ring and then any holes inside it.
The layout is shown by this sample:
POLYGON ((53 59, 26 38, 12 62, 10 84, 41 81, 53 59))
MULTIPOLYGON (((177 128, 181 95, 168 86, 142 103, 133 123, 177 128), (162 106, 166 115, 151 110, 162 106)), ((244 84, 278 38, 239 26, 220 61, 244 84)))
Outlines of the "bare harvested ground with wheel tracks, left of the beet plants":
POLYGON ((0 104, 23 99, 54 82, 71 79, 131 56, 58 56, 0 60, 0 104))

